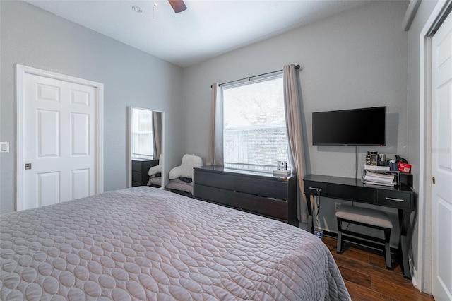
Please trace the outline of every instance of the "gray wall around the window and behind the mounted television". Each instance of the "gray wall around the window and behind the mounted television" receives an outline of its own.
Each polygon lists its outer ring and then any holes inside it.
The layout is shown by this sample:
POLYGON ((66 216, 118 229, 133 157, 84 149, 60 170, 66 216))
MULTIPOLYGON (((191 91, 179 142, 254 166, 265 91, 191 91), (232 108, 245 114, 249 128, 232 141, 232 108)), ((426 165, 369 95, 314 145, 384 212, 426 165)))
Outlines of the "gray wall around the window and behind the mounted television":
MULTIPOLYGON (((359 147, 359 165, 371 149, 407 158, 407 33, 402 29, 407 6, 406 1, 371 1, 184 69, 186 151, 206 158, 211 83, 300 64, 308 173, 355 177, 354 146, 312 146, 311 114, 322 110, 386 105, 387 146, 359 147)), ((337 230, 334 202, 321 203, 323 229, 337 230)), ((396 223, 397 212, 389 212, 396 223)), ((393 238, 396 244, 396 233, 393 238)))

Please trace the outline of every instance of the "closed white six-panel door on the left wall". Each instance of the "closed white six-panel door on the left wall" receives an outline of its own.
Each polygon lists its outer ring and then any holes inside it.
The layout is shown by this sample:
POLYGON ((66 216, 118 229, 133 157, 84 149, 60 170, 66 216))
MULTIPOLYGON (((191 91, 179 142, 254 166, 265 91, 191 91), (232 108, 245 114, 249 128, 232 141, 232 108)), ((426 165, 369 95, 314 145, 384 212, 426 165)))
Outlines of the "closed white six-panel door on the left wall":
POLYGON ((98 87, 54 73, 19 76, 18 210, 101 192, 98 87))

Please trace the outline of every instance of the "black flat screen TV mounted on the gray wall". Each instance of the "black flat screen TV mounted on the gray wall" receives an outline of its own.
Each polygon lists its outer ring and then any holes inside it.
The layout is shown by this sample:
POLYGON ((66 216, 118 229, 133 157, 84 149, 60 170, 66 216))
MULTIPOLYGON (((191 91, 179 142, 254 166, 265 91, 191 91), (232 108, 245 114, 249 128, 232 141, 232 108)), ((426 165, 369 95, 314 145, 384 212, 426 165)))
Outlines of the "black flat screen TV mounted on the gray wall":
POLYGON ((314 146, 386 146, 386 107, 312 113, 314 146))

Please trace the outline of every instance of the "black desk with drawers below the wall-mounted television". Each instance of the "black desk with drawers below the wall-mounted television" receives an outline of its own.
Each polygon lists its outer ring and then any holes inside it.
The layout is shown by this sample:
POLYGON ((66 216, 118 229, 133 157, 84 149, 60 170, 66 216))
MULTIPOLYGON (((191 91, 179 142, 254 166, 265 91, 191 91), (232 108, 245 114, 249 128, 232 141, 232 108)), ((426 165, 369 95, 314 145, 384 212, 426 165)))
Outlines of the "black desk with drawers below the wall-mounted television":
POLYGON ((408 265, 407 235, 410 230, 410 214, 412 211, 416 211, 416 195, 410 187, 401 185, 399 188, 388 189, 367 186, 362 184, 361 179, 324 175, 308 175, 303 181, 309 213, 308 229, 311 232, 314 230, 314 220, 312 218, 310 196, 316 196, 317 191, 319 191, 320 196, 332 199, 397 208, 400 226, 399 254, 402 257, 401 266, 403 276, 411 279, 410 266, 408 265))

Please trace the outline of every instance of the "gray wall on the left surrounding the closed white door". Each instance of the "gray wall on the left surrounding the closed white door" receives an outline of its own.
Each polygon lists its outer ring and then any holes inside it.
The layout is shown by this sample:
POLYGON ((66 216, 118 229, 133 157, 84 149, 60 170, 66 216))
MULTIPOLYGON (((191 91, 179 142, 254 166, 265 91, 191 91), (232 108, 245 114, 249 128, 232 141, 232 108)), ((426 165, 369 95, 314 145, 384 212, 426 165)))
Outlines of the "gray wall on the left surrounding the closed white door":
POLYGON ((22 1, 0 3, 0 141, 10 142, 0 154, 0 213, 16 206, 16 64, 104 84, 105 191, 128 187, 129 106, 165 112, 165 165, 180 165, 181 68, 22 1))

